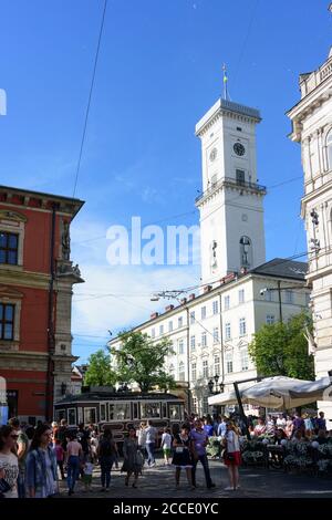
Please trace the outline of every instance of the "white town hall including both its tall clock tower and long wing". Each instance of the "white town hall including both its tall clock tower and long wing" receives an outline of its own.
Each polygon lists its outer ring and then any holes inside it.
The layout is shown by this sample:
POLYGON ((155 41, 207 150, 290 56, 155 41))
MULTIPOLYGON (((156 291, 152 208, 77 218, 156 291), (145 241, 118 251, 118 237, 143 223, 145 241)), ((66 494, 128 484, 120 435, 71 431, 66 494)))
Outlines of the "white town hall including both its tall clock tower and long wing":
MULTIPOLYGON (((187 407, 208 412, 209 381, 216 386, 256 377, 248 345, 264 323, 308 309, 307 264, 266 262, 263 196, 256 171, 256 108, 218 102, 196 125, 201 141, 200 294, 154 313, 135 327, 157 342, 168 337, 175 354, 167 372, 187 387, 187 407)), ((110 345, 121 349, 117 339, 110 345)), ((217 389, 217 387, 216 387, 217 389)))

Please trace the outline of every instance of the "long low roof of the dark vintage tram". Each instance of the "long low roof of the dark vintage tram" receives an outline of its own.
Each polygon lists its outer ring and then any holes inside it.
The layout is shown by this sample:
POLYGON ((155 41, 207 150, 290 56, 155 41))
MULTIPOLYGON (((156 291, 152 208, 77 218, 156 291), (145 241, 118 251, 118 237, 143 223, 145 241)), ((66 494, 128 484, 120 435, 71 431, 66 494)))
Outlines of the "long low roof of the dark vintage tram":
POLYGON ((167 393, 141 393, 141 392, 86 392, 83 394, 66 395, 63 399, 58 401, 55 406, 66 405, 80 402, 96 402, 96 401, 183 401, 174 394, 167 393))

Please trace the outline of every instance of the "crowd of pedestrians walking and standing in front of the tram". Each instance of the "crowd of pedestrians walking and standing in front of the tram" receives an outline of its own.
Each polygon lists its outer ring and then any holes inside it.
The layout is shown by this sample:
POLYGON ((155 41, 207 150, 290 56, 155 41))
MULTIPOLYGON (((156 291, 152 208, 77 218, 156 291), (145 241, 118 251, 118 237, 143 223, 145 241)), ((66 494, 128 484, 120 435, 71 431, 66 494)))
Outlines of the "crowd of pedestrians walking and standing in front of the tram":
MULTIPOLYGON (((152 422, 142 423, 138 429, 128 425, 122 444, 124 485, 136 488, 143 468, 156 466, 157 444, 163 450, 165 466, 175 468, 178 489, 181 470, 189 489, 195 489, 196 468, 204 468, 207 488, 214 488, 206 447, 211 434, 209 420, 191 417, 180 427, 165 427, 160 434, 152 422)), ((229 468, 230 489, 238 488, 240 465, 239 431, 228 422, 222 436, 225 464, 229 468)), ((108 427, 98 431, 95 425, 69 428, 64 419, 58 423, 21 425, 11 418, 0 427, 0 497, 51 498, 59 493, 59 480, 66 480, 68 495, 75 492, 81 479, 83 490, 92 491, 92 475, 100 465, 101 489, 108 492, 113 467, 120 468, 120 448, 108 427)))

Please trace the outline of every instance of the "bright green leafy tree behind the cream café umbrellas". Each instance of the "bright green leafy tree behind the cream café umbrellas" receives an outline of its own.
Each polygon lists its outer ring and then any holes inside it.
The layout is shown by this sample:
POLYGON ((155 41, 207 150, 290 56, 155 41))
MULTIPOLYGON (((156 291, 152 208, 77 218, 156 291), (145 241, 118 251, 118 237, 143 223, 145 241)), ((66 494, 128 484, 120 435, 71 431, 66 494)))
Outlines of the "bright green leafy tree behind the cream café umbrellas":
POLYGON ((299 379, 314 379, 313 356, 308 353, 305 325, 312 321, 304 312, 288 323, 263 325, 249 345, 249 355, 263 376, 284 375, 299 379))

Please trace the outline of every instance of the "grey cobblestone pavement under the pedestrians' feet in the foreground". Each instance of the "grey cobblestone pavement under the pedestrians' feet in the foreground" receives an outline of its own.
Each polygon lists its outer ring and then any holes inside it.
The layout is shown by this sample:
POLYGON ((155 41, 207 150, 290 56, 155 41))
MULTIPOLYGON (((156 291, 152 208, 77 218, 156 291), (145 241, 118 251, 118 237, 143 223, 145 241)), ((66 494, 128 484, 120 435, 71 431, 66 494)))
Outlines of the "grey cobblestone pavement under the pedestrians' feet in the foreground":
MULTIPOLYGON (((120 462, 120 467, 122 464, 120 462)), ((228 486, 227 468, 219 460, 209 461, 211 477, 216 488, 207 489, 205 486, 204 471, 200 465, 197 467, 197 489, 189 490, 181 475, 180 488, 175 489, 175 477, 173 466, 164 466, 157 460, 154 468, 144 468, 138 479, 137 489, 131 485, 124 485, 125 476, 120 470, 112 470, 111 488, 108 492, 101 492, 100 467, 94 469, 92 491, 84 492, 81 481, 76 483, 73 497, 89 498, 332 498, 332 479, 318 478, 308 475, 289 475, 282 470, 262 468, 241 468, 240 489, 226 491, 228 486)), ((184 474, 184 471, 183 471, 184 474)), ((60 482, 61 496, 68 496, 65 481, 60 482)), ((70 499, 70 497, 69 497, 70 499)))

